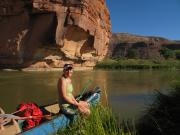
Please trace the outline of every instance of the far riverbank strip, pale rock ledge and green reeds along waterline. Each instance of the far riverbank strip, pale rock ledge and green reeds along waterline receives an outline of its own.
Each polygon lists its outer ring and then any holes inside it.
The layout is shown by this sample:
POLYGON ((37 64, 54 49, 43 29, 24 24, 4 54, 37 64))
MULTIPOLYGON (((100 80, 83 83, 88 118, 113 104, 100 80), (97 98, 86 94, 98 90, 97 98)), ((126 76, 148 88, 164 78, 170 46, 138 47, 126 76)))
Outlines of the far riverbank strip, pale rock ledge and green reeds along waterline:
MULTIPOLYGON (((75 71, 93 70, 93 69, 180 69, 180 60, 153 60, 153 59, 105 59, 98 62, 94 67, 74 66, 75 71)), ((1 69, 1 71, 62 71, 62 67, 27 67, 19 69, 1 69)))

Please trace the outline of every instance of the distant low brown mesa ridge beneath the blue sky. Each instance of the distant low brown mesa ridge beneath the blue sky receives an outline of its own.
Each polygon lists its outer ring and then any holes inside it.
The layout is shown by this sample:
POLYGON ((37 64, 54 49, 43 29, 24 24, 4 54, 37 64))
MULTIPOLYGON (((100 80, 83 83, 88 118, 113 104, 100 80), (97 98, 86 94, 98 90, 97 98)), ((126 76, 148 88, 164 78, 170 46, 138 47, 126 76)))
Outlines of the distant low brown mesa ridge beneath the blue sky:
POLYGON ((180 50, 180 41, 171 41, 161 37, 145 37, 127 33, 112 35, 108 55, 114 58, 126 58, 129 51, 135 50, 138 58, 161 58, 160 49, 166 47, 180 50))

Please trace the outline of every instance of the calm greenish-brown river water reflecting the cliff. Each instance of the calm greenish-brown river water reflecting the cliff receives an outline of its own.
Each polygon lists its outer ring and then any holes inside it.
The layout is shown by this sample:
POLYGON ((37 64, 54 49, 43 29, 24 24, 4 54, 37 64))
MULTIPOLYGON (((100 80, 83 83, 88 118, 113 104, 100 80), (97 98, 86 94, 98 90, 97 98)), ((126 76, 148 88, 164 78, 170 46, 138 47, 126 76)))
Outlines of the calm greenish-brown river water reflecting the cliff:
MULTIPOLYGON (((6 113, 15 111, 22 102, 38 105, 57 100, 57 80, 61 71, 5 72, 0 71, 0 107, 6 113)), ((88 85, 102 89, 102 102, 112 107, 122 118, 138 117, 153 100, 155 90, 166 92, 180 77, 180 71, 74 71, 72 80, 75 93, 88 85)))

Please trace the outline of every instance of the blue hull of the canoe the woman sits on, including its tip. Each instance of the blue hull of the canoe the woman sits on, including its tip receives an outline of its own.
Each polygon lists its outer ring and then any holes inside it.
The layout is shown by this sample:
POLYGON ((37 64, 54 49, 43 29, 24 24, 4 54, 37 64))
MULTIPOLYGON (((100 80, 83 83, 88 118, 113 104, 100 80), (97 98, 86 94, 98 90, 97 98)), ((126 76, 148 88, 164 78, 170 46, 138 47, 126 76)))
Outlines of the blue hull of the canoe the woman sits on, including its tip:
MULTIPOLYGON (((97 105, 100 101, 100 89, 89 92, 90 94, 86 95, 84 100, 86 100, 91 106, 97 105)), ((76 116, 74 116, 75 118, 76 116)), ((63 129, 69 125, 72 121, 72 117, 69 118, 64 114, 59 114, 52 120, 46 121, 39 126, 27 130, 25 132, 19 133, 18 135, 52 135, 56 134, 59 129, 63 129)))

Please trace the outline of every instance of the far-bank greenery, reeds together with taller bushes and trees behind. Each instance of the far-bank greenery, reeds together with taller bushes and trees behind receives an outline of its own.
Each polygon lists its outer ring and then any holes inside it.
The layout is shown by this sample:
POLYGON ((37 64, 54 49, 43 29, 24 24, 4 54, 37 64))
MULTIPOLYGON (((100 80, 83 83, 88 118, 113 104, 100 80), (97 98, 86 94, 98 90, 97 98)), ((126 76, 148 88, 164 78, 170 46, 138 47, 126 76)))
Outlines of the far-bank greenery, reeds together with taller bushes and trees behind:
MULTIPOLYGON (((146 46, 144 43, 137 43, 146 46)), ((103 69, 180 69, 180 50, 162 47, 154 53, 143 51, 139 48, 119 49, 114 55, 102 62, 98 62, 95 68, 103 69), (148 54, 145 54, 148 53, 148 54)))

